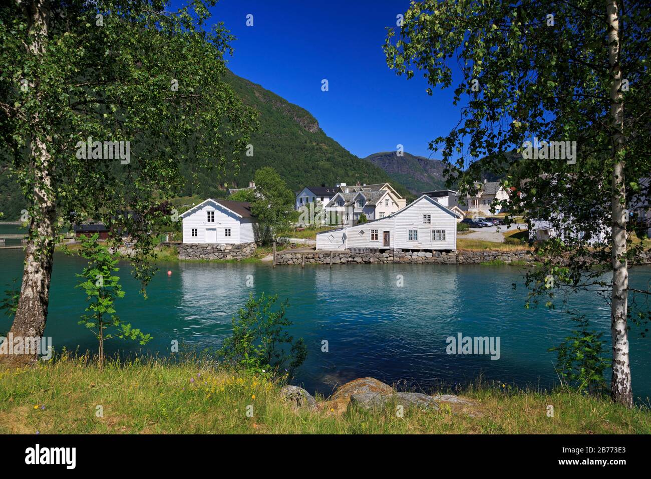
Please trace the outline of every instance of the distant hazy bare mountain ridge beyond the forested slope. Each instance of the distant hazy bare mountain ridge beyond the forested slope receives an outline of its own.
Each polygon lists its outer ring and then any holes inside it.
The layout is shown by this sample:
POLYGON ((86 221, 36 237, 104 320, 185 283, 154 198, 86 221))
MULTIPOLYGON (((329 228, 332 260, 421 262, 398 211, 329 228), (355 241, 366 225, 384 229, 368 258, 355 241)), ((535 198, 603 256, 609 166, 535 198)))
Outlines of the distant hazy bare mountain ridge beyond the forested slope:
POLYGON ((441 160, 430 160, 408 152, 398 156, 395 151, 373 153, 364 159, 379 166, 393 182, 401 184, 416 196, 426 191, 445 189, 441 160))

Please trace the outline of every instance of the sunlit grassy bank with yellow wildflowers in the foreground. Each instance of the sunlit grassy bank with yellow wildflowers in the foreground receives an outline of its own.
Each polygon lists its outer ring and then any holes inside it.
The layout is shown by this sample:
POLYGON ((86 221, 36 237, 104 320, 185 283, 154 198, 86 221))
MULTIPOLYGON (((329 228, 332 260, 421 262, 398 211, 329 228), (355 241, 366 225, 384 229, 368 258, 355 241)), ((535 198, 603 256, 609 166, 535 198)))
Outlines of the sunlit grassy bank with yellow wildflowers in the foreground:
POLYGON ((323 407, 293 409, 279 389, 199 360, 134 360, 100 370, 64 353, 32 368, 0 370, 0 433, 651 433, 646 408, 561 390, 475 385, 464 391, 477 401, 474 417, 445 405, 410 407, 397 417, 393 404, 349 407, 342 416, 323 407))

